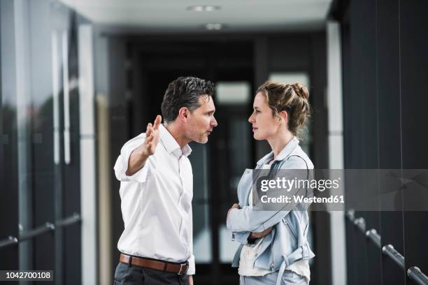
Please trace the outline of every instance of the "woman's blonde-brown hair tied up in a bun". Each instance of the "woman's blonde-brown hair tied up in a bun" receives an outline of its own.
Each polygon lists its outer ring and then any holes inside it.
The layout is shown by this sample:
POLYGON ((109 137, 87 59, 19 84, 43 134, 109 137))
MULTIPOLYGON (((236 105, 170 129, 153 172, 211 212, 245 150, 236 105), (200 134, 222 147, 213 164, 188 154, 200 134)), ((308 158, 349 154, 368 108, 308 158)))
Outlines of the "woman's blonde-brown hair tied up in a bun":
POLYGON ((290 85, 268 80, 257 89, 259 92, 266 96, 273 116, 279 116, 281 111, 287 112, 288 129, 298 136, 311 115, 308 89, 299 82, 290 85))

